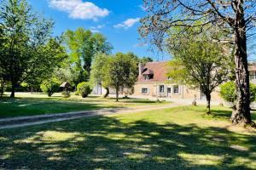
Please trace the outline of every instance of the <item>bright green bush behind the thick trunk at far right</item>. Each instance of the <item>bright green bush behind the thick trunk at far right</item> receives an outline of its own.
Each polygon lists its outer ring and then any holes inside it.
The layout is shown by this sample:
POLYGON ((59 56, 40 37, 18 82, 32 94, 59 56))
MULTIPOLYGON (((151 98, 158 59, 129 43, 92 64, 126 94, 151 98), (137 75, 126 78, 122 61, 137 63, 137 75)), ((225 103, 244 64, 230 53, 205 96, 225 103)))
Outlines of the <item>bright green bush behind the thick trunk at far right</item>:
MULTIPOLYGON (((236 84, 235 82, 225 82, 220 86, 220 96, 228 101, 235 103, 236 101, 236 84)), ((256 86, 250 83, 250 100, 253 102, 256 97, 256 86)))

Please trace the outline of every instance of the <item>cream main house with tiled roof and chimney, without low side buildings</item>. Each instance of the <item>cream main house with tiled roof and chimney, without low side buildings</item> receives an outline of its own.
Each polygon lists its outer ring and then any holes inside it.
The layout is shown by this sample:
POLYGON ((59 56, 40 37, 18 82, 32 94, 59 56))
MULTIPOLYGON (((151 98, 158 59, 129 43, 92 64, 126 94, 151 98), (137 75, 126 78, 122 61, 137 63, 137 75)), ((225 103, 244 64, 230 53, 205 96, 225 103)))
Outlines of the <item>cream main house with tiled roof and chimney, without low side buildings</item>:
MULTIPOLYGON (((166 76, 167 62, 149 62, 140 64, 138 80, 134 86, 134 95, 144 98, 205 99, 200 90, 172 83, 166 76)), ((220 100, 218 88, 212 93, 212 100, 220 100)))

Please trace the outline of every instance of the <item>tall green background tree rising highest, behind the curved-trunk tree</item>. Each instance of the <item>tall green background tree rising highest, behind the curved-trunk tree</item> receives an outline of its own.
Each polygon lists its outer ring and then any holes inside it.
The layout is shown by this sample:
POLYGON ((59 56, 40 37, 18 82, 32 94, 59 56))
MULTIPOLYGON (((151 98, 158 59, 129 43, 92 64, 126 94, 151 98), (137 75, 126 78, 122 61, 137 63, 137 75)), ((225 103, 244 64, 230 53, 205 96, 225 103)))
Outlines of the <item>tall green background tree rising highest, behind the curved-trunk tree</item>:
POLYGON ((75 63, 76 70, 80 71, 80 82, 89 79, 90 66, 96 54, 110 54, 113 48, 101 33, 92 33, 84 28, 68 30, 63 37, 70 50, 71 62, 75 63))

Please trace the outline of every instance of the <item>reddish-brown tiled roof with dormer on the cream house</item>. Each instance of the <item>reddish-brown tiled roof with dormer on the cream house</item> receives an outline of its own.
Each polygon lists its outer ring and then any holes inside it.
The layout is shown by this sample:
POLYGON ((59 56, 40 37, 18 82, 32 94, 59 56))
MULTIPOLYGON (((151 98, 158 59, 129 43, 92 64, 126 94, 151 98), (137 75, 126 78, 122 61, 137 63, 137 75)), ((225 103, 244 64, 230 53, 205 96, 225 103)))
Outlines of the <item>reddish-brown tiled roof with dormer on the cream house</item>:
POLYGON ((137 82, 165 82, 167 80, 166 69, 167 62, 148 62, 143 69, 143 73, 138 76, 137 82), (143 74, 152 73, 154 74, 154 77, 149 80, 145 80, 143 77, 143 74))

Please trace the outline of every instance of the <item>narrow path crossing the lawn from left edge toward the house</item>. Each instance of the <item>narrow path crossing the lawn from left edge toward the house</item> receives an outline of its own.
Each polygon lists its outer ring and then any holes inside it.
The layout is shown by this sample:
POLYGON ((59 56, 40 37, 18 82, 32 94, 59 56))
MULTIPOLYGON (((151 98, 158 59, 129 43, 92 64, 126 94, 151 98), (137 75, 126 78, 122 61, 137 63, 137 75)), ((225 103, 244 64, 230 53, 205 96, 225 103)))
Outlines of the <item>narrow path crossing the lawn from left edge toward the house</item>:
POLYGON ((48 122, 61 122, 67 120, 78 119, 87 116, 104 116, 121 113, 135 113, 140 111, 154 111, 160 109, 167 109, 187 104, 171 103, 169 105, 143 105, 137 107, 125 107, 125 108, 111 108, 101 109, 95 111, 78 111, 69 113, 59 113, 51 115, 39 115, 39 116, 20 116, 14 118, 0 119, 0 129, 15 128, 15 127, 27 127, 32 125, 39 125, 48 122))

